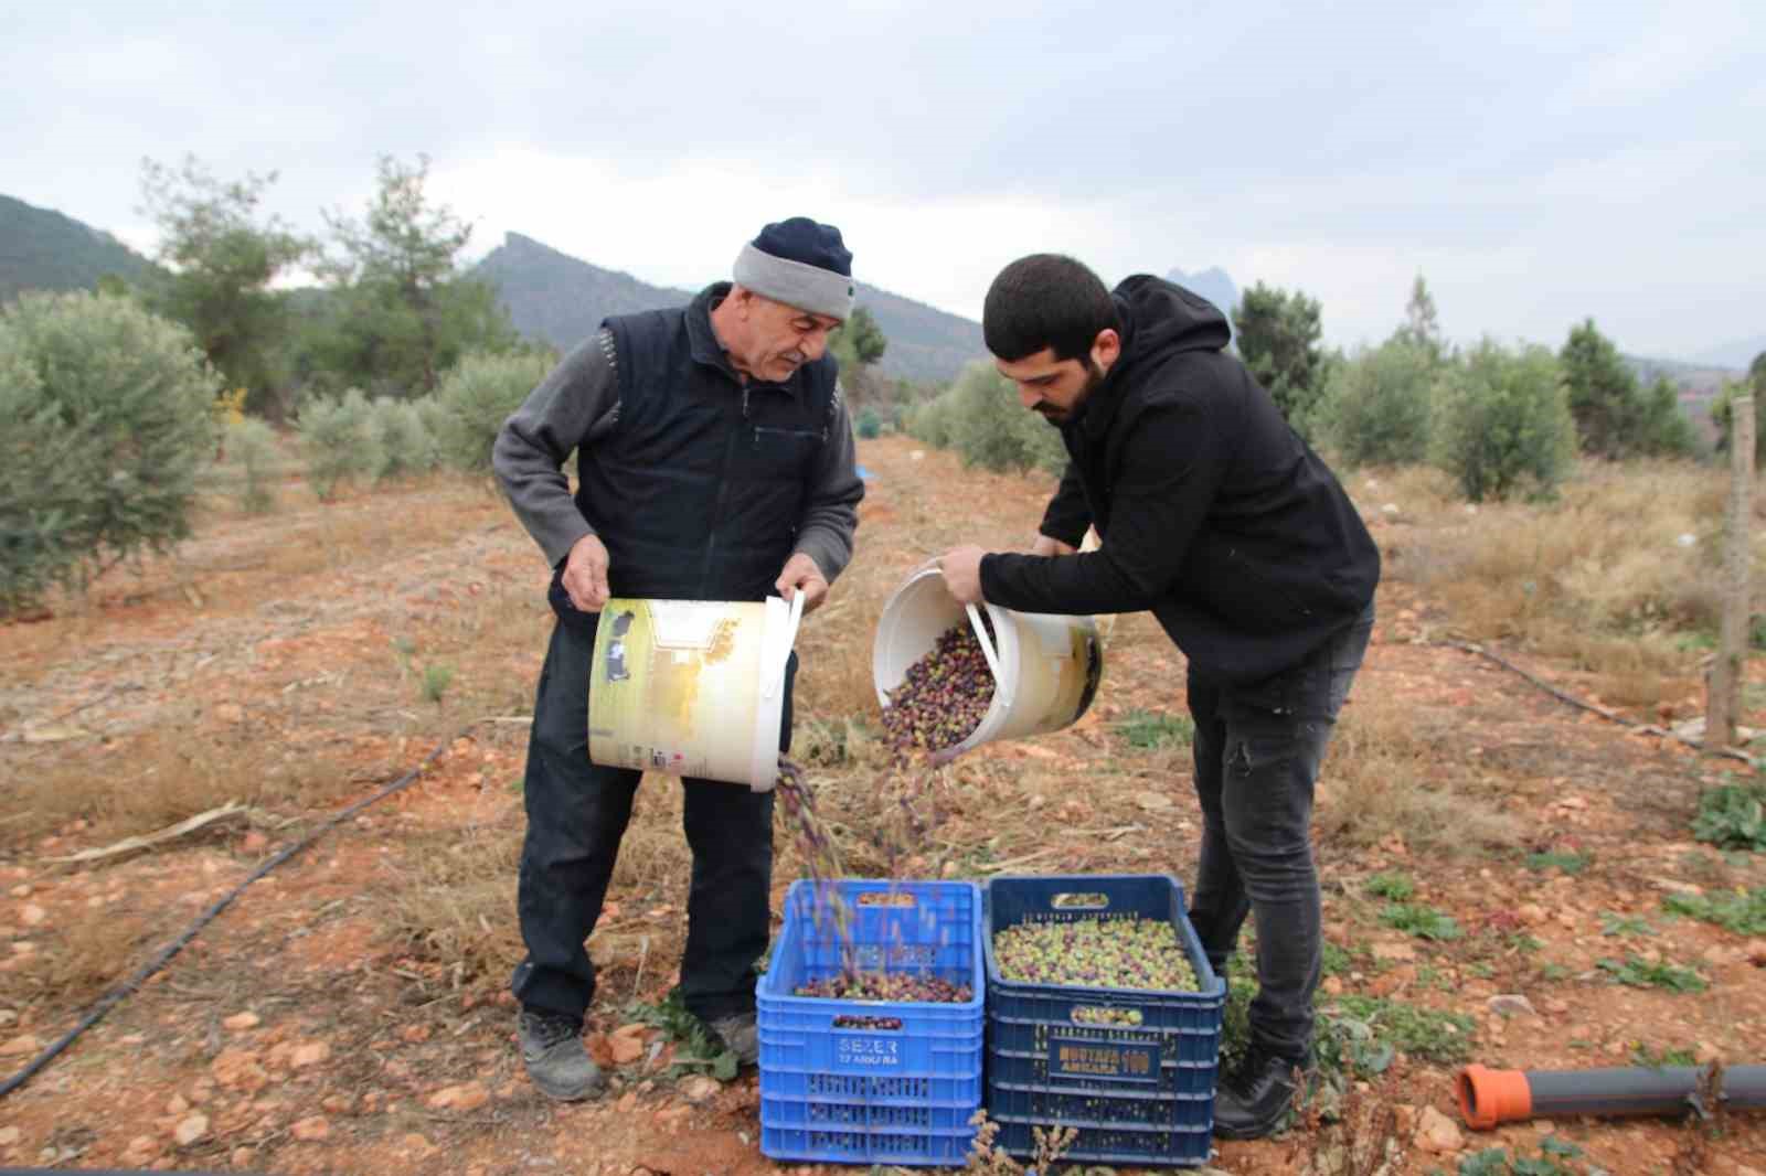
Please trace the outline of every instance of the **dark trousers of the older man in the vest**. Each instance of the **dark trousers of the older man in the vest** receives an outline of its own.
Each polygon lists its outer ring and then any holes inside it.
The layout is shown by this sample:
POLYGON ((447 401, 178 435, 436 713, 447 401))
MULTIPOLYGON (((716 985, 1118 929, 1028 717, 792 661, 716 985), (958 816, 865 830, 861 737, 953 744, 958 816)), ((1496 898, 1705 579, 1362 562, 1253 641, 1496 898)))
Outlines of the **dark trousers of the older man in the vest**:
MULTIPOLYGON (((600 918, 643 779, 636 770, 588 759, 593 652, 593 623, 558 623, 540 669, 528 736, 528 833, 516 902, 528 955, 510 980, 525 1006, 576 1021, 595 998, 595 966, 585 941, 600 918)), ((789 749, 795 675, 796 655, 786 666, 781 750, 789 749)), ((682 788, 682 823, 692 849, 682 998, 706 1021, 751 1014, 754 961, 770 938, 774 795, 692 777, 682 788)))

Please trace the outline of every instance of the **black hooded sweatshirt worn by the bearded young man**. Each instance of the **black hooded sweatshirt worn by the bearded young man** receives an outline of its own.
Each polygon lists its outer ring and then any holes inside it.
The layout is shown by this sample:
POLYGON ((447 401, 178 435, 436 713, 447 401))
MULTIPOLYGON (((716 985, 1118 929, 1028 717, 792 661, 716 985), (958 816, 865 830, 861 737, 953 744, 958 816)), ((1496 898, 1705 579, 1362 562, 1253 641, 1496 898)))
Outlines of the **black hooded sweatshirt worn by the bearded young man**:
POLYGON ((989 554, 987 600, 1026 613, 1151 609, 1203 680, 1298 666, 1374 597, 1379 549, 1330 468, 1226 355, 1210 302, 1144 274, 1113 293, 1123 350, 1061 440, 1042 533, 1102 549, 989 554))

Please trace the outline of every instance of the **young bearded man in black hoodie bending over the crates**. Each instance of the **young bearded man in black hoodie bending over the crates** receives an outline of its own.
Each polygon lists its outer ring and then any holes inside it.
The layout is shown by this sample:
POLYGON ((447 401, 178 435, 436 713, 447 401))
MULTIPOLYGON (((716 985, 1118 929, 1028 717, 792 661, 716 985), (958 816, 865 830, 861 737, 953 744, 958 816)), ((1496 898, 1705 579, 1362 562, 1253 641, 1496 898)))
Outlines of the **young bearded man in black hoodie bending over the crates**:
POLYGON ((1181 286, 1136 275, 1111 293, 1079 261, 1035 254, 994 279, 982 330, 1070 463, 1031 554, 959 547, 945 579, 966 604, 1151 609, 1189 660, 1204 818, 1190 918, 1217 971, 1257 918, 1250 1052, 1220 1081, 1215 1132, 1266 1135, 1312 1044, 1312 786, 1372 630, 1379 551, 1222 351, 1226 318, 1181 286), (1074 554, 1088 524, 1104 544, 1074 554))

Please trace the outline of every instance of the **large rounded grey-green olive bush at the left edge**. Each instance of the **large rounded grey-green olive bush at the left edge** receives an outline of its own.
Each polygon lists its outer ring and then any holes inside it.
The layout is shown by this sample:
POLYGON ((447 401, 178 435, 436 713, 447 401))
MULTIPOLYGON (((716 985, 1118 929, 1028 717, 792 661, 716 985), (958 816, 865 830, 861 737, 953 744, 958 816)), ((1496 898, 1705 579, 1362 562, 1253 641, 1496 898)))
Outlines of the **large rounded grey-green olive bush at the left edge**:
POLYGON ((189 535, 215 385, 187 330, 127 298, 0 313, 0 614, 189 535))

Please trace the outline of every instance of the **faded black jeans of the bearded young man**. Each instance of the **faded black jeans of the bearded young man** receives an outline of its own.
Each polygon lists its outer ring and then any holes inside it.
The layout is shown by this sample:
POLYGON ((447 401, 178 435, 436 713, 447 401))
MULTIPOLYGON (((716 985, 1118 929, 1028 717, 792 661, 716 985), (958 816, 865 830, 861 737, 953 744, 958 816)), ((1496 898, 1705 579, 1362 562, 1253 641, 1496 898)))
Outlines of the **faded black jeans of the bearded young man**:
POLYGON ((1369 604, 1355 625, 1294 669, 1249 687, 1189 680, 1203 807, 1190 922, 1220 971, 1245 915, 1256 913, 1250 1040, 1284 1058, 1310 1051, 1323 962, 1312 788, 1372 629, 1369 604))

